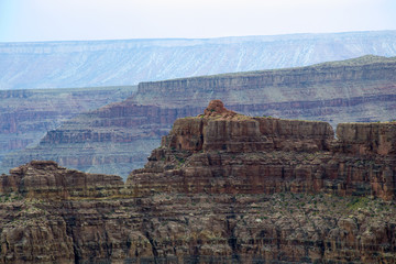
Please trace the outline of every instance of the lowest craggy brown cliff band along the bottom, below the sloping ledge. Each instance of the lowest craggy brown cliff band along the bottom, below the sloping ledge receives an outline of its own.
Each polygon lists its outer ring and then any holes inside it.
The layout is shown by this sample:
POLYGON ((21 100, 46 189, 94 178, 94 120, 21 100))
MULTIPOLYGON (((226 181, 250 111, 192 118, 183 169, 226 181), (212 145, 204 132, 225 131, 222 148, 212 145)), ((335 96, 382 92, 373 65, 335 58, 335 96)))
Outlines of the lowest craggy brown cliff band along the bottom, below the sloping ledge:
POLYGON ((395 206, 376 199, 293 193, 15 198, 0 204, 0 263, 396 260, 395 206))

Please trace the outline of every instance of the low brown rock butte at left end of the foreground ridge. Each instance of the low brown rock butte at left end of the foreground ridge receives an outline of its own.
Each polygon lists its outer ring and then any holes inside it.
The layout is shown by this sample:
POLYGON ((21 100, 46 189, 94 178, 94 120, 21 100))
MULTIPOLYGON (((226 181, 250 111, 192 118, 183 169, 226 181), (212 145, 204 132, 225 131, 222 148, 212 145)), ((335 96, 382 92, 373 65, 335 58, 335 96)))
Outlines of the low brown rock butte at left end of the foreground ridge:
POLYGON ((1 194, 19 193, 29 198, 103 197, 118 194, 122 187, 119 176, 67 169, 52 161, 32 161, 0 176, 1 194))

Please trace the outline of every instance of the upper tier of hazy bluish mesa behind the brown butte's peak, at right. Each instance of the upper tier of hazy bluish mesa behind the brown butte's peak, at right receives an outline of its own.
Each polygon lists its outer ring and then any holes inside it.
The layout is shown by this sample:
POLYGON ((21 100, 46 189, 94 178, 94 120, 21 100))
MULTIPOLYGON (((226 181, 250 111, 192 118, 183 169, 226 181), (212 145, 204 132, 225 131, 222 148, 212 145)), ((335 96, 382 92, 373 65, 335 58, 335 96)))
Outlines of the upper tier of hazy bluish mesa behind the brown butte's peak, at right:
POLYGON ((316 119, 333 127, 388 121, 395 109, 395 58, 364 56, 304 68, 141 82, 134 100, 184 108, 191 100, 205 106, 220 98, 249 116, 316 119))

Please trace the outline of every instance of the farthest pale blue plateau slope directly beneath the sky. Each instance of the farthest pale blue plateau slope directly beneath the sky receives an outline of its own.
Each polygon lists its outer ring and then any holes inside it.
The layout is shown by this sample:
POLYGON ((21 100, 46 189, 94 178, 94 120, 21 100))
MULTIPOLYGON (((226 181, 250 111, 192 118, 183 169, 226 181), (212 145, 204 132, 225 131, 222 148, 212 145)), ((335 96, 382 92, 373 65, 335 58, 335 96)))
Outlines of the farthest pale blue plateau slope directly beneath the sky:
POLYGON ((396 32, 0 43, 0 89, 138 85, 188 76, 396 56, 396 32))

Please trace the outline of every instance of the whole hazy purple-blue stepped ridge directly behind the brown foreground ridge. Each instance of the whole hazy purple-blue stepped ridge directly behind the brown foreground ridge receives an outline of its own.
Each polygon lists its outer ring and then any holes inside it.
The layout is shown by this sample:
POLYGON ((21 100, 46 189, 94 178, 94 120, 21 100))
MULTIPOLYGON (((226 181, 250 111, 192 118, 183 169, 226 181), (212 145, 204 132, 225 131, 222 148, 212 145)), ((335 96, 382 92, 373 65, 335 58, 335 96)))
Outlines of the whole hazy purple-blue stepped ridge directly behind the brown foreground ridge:
POLYGON ((389 121, 396 110, 395 76, 395 58, 365 56, 304 68, 142 82, 125 101, 63 123, 37 146, 9 155, 2 166, 54 160, 127 177, 144 165, 177 118, 197 116, 217 98, 251 117, 321 120, 334 128, 340 122, 389 121))

